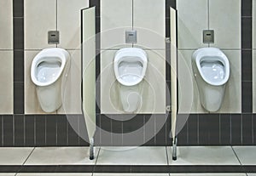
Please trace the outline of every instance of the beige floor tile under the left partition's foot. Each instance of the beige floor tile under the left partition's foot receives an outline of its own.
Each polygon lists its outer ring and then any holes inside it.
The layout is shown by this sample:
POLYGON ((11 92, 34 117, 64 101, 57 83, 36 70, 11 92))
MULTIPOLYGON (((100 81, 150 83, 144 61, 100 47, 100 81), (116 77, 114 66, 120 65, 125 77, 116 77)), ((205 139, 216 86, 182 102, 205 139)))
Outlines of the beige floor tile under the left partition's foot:
MULTIPOLYGON (((97 153, 96 149, 96 156, 97 153)), ((86 165, 95 162, 89 159, 89 147, 38 147, 25 165, 86 165)))

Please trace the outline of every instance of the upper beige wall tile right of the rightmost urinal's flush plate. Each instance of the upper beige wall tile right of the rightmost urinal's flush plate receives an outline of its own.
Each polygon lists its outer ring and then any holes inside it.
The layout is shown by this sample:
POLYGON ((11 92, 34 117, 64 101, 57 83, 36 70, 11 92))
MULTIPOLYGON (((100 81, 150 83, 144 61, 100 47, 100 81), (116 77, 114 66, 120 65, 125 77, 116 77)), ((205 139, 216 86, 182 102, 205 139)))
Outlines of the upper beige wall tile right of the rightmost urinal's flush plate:
POLYGON ((241 0, 210 0, 209 29, 214 30, 212 47, 241 48, 241 0))

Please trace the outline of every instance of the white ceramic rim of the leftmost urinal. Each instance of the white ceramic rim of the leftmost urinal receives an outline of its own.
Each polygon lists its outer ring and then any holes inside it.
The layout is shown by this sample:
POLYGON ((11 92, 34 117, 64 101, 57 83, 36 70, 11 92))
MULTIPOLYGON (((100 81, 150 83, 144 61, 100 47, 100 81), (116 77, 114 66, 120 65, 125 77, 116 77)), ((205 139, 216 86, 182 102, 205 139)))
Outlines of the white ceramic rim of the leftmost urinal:
POLYGON ((65 66, 67 65, 67 62, 70 60, 70 55, 68 54, 66 49, 63 48, 44 48, 42 51, 40 51, 32 60, 32 66, 31 66, 31 78, 32 82, 36 84, 39 87, 45 87, 49 86, 53 83, 55 83, 60 77, 62 72, 65 69, 65 66), (57 77, 55 77, 54 80, 51 80, 50 82, 39 82, 36 77, 36 68, 39 64, 41 64, 44 60, 49 59, 50 57, 55 57, 61 61, 61 68, 58 72, 57 77))

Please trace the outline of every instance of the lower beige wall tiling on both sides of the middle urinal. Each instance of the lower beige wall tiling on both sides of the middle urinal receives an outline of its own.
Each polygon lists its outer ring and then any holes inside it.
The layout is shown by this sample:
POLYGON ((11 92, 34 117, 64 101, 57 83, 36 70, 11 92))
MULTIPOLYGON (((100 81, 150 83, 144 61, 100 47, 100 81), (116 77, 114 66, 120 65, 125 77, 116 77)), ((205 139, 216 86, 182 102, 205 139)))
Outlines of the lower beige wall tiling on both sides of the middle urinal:
MULTIPOLYGON (((113 72, 113 56, 116 51, 102 51, 101 110, 102 113, 120 113, 119 83, 113 72)), ((147 50, 148 68, 141 84, 143 105, 138 113, 166 113, 166 60, 165 50, 147 50)))

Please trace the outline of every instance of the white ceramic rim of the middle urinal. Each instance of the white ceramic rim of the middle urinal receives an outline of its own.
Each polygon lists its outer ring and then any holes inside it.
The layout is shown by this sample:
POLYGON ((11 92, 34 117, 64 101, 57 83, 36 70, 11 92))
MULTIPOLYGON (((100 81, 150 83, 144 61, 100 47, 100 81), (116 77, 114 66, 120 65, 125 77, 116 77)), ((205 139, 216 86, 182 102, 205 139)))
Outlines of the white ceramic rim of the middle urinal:
POLYGON ((146 70, 148 67, 148 57, 147 53, 142 48, 121 48, 119 49, 113 59, 113 70, 114 75, 119 83, 121 83, 124 86, 134 86, 137 85, 139 82, 143 81, 143 77, 145 77, 146 70), (128 58, 136 57, 134 61, 139 61, 143 65, 143 71, 139 79, 137 79, 137 82, 125 82, 122 77, 119 76, 119 64, 123 61, 126 62, 132 62, 130 60, 127 60, 128 58))

